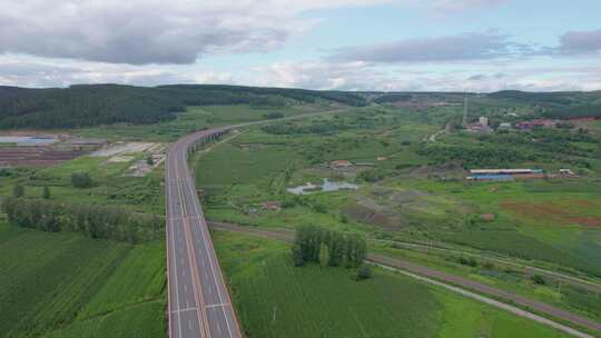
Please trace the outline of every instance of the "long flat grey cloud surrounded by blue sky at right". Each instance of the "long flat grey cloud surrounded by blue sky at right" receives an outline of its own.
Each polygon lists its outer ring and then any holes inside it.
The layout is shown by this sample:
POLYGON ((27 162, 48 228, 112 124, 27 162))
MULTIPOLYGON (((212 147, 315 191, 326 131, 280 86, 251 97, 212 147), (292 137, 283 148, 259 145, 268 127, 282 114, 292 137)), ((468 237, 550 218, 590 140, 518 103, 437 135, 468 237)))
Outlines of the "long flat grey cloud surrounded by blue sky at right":
POLYGON ((513 57, 528 49, 525 44, 510 41, 505 34, 490 31, 346 47, 329 58, 366 62, 446 62, 513 57))

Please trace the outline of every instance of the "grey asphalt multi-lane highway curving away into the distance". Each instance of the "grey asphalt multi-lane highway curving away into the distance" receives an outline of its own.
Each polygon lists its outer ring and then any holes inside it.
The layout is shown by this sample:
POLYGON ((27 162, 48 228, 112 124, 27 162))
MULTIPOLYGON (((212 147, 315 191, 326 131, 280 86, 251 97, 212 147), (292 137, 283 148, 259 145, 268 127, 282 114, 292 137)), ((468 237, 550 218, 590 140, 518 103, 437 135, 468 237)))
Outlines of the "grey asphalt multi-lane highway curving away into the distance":
POLYGON ((226 128, 179 139, 167 153, 169 337, 242 337, 188 168, 188 149, 226 128))

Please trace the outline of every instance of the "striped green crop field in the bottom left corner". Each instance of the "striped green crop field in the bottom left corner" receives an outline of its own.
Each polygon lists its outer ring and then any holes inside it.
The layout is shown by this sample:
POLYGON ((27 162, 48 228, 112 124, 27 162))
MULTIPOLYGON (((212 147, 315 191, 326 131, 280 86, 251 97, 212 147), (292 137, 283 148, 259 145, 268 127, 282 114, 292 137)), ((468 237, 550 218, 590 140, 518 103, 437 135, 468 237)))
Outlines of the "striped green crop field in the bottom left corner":
POLYGON ((6 337, 164 335, 160 245, 17 229, 0 220, 0 331, 6 337))

